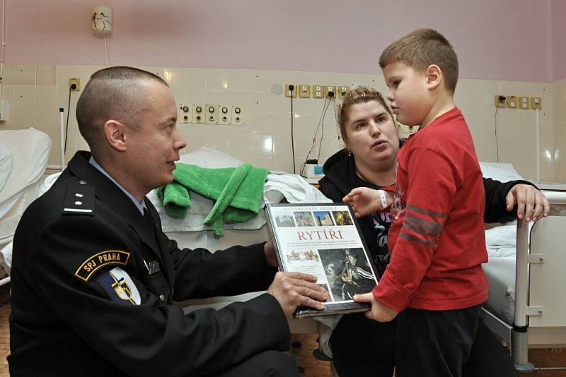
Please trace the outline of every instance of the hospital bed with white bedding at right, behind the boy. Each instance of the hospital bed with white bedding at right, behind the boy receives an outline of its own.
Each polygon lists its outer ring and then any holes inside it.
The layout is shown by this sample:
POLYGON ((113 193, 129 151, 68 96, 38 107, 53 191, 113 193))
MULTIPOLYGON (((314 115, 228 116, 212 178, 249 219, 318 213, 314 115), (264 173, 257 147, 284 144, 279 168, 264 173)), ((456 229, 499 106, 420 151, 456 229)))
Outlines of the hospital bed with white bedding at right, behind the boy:
MULTIPOLYGON (((499 181, 521 179, 509 164, 482 169, 499 181)), ((517 371, 533 371, 529 348, 566 347, 565 188, 541 185, 551 204, 549 217, 486 227, 489 261, 483 269, 490 288, 482 316, 510 346, 517 371)))

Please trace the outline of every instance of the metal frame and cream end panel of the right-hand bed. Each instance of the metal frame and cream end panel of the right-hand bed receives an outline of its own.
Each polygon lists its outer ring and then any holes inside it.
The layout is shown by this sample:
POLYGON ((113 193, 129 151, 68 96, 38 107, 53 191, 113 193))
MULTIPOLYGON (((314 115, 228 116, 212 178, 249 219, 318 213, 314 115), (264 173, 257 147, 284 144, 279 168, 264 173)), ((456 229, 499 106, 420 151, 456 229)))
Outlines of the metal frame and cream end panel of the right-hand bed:
MULTIPOLYGON (((566 192, 543 191, 551 205, 566 204, 566 192)), ((566 347, 566 213, 529 223, 517 221, 514 323, 483 308, 485 324, 511 345, 515 368, 534 370, 531 348, 566 347)))

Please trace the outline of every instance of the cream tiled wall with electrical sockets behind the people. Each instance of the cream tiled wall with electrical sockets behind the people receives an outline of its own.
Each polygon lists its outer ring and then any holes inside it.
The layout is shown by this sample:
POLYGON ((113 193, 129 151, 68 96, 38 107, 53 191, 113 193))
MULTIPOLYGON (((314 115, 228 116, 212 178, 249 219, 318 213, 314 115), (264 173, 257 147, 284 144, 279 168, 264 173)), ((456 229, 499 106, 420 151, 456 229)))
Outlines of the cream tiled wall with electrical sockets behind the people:
MULTIPOLYGON (((68 78, 88 76, 98 66, 9 65, 4 66, 3 100, 10 104, 9 120, 0 129, 33 126, 53 140, 50 164, 59 164, 59 107, 67 110, 68 78)), ((246 162, 274 170, 292 172, 291 103, 277 84, 371 85, 386 92, 381 74, 351 74, 299 71, 253 71, 211 68, 150 68, 171 85, 180 104, 226 104, 243 107, 244 124, 179 124, 187 140, 187 150, 202 145, 217 148, 246 162)), ((377 69, 376 69, 377 71, 377 69)), ((455 101, 463 110, 481 161, 511 162, 528 179, 536 177, 535 124, 533 110, 498 109, 493 97, 519 95, 542 97, 541 180, 566 181, 566 80, 525 83, 497 80, 458 82, 455 101), (553 107, 557 109, 553 114, 553 107), (497 133, 497 139, 496 139, 497 133), (497 142, 496 142, 497 140, 497 142)), ((71 92, 71 116, 67 140, 67 159, 75 150, 85 149, 74 117, 79 92, 71 92)), ((299 169, 308 150, 323 110, 324 100, 294 99, 295 164, 299 169)), ((319 154, 320 128, 309 158, 319 154)), ((335 112, 331 105, 324 117, 324 138, 320 147, 323 162, 341 148, 337 138, 335 112)))

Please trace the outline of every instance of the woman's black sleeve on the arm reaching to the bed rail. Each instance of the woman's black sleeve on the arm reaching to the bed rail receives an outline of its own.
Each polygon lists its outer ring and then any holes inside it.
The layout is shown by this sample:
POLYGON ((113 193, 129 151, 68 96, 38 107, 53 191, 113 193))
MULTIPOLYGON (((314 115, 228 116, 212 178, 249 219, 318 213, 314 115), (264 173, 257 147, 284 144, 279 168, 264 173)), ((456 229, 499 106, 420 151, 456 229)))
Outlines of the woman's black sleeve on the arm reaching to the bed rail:
POLYGON ((507 193, 509 193, 509 190, 516 184, 535 186, 529 181, 509 181, 502 183, 491 178, 483 179, 483 187, 485 189, 484 222, 509 222, 516 220, 516 207, 508 212, 506 208, 507 202, 505 201, 507 193))

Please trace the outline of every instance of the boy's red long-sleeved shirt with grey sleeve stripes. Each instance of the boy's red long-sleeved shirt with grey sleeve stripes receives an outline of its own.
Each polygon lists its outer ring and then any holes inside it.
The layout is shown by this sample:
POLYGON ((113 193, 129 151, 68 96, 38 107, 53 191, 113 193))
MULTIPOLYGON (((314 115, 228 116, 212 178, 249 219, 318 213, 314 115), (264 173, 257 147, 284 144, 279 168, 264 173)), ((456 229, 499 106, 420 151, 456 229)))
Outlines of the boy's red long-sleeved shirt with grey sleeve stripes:
POLYGON ((484 201, 472 136, 454 107, 411 136, 398 153, 391 262, 374 297, 396 311, 483 303, 484 201))

